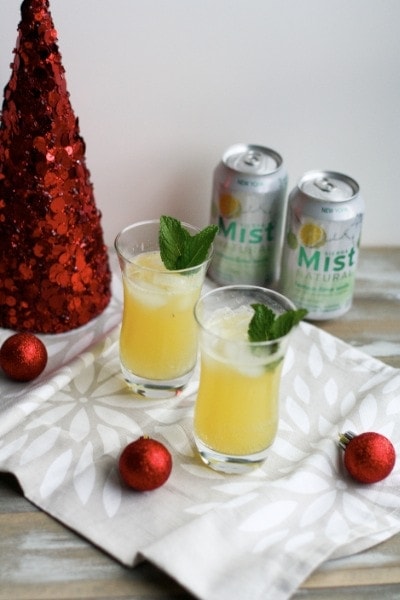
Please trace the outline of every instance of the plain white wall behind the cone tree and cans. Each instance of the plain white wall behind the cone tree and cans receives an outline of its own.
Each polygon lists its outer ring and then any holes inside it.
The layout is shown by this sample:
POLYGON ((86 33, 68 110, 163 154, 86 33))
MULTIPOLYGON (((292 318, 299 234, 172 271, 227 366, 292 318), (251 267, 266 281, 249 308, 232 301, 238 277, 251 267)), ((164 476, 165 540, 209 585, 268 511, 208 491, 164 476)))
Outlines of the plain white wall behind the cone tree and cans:
MULTIPOLYGON (((363 245, 400 243, 399 0, 50 0, 107 243, 161 213, 208 223, 241 141, 354 177, 363 245)), ((0 87, 20 2, 0 4, 0 87)))

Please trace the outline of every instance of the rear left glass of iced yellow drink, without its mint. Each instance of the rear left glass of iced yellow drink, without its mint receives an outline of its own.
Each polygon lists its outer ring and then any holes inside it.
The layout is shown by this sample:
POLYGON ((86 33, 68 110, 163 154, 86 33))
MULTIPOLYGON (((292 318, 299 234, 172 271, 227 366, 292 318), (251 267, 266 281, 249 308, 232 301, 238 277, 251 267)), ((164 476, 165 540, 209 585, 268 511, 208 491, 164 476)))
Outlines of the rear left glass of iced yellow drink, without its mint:
POLYGON ((132 391, 147 398, 176 395, 192 375, 198 338, 193 307, 209 262, 169 271, 160 257, 159 228, 159 220, 136 223, 115 240, 124 289, 121 369, 132 391))

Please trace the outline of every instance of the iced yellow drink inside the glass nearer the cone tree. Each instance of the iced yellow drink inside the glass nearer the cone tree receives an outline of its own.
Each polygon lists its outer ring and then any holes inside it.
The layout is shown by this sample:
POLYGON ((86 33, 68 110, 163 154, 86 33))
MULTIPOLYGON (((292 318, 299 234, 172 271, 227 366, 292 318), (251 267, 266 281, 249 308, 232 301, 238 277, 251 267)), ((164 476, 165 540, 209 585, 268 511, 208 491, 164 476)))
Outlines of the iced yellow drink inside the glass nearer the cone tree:
POLYGON ((168 271, 158 251, 139 254, 123 277, 120 357, 139 377, 169 380, 193 369, 197 327, 193 306, 203 274, 168 271))

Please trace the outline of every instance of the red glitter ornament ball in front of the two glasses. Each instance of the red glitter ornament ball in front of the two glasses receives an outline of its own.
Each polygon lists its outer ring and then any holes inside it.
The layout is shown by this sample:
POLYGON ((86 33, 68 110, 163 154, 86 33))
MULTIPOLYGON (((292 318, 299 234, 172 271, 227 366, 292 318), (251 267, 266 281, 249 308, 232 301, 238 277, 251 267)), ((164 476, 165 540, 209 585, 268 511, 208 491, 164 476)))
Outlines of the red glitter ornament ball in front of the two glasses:
POLYGON ((172 470, 172 457, 157 440, 141 437, 122 451, 118 466, 125 483, 144 492, 167 481, 172 470))

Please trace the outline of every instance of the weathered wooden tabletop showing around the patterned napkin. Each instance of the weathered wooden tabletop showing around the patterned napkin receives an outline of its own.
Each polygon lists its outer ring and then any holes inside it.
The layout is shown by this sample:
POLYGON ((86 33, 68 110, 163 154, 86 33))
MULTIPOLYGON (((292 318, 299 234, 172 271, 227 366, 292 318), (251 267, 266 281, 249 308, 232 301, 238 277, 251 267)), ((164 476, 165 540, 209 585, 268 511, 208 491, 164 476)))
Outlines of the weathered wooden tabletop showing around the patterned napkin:
MULTIPOLYGON (((399 309, 400 247, 365 248, 352 309, 319 326, 400 368, 399 309)), ((25 500, 13 476, 0 474, 0 600, 85 598, 193 600, 150 564, 123 567, 25 500)), ((292 597, 339 598, 400 598, 400 534, 324 563, 292 597)))

